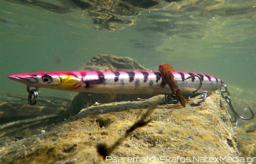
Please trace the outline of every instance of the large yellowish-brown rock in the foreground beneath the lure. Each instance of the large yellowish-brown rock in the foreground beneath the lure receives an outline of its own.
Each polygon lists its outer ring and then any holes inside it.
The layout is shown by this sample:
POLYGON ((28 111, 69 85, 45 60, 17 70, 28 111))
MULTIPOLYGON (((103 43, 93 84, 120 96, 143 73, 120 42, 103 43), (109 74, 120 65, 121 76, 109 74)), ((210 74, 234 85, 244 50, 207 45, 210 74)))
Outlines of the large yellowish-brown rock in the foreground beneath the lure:
MULTIPOLYGON (((96 103, 44 134, 1 148, 0 163, 111 163, 99 155, 97 144, 113 145, 152 104, 157 105, 148 118, 151 122, 127 136, 110 154, 112 157, 138 160, 136 157, 162 156, 178 159, 178 163, 199 163, 195 161, 199 157, 237 156, 230 115, 220 96, 213 93, 200 105, 185 108, 166 104, 162 95, 132 102, 96 103)), ((156 162, 152 159, 146 163, 156 162)))

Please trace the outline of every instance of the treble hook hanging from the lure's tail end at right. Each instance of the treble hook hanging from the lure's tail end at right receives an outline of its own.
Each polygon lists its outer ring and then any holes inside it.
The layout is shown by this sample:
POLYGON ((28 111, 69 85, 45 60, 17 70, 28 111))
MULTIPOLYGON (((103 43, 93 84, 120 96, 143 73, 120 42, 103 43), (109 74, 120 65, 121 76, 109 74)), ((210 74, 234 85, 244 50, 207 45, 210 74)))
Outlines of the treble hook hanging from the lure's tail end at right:
POLYGON ((225 84, 222 84, 221 87, 220 87, 220 90, 221 90, 221 96, 225 99, 225 101, 228 103, 228 105, 230 106, 230 109, 232 111, 232 113, 234 114, 234 117, 235 117, 235 120, 232 121, 232 119, 230 118, 230 120, 233 122, 234 125, 238 125, 238 119, 237 117, 243 119, 243 120, 250 120, 250 119, 253 119, 254 118, 254 113, 252 111, 252 109, 250 109, 250 107, 248 106, 249 108, 249 111, 250 113, 252 113, 252 116, 249 117, 249 118, 245 118, 245 117, 242 117, 240 116, 237 111, 235 110, 234 106, 232 105, 232 102, 231 102, 231 98, 230 98, 230 92, 227 90, 227 86, 225 84), (222 89, 222 87, 225 88, 225 90, 222 89), (227 96, 224 96, 224 93, 227 93, 227 96))

